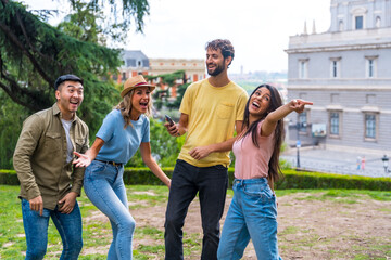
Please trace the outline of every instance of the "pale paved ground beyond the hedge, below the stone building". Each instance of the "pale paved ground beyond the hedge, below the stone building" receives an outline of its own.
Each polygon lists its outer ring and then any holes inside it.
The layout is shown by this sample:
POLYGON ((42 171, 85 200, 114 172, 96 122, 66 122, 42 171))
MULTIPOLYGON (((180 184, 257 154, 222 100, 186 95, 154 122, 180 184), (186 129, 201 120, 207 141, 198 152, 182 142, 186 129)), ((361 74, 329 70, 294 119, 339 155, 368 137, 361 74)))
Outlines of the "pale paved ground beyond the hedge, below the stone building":
MULTIPOLYGON (((319 147, 301 147, 300 148, 300 168, 305 170, 314 170, 320 172, 332 172, 350 176, 366 177, 388 177, 391 172, 386 173, 383 154, 363 155, 353 152, 339 152, 333 150, 325 150, 319 147), (365 156, 365 169, 357 170, 357 157, 365 156)), ((391 156, 391 152, 388 156, 391 156)), ((281 154, 281 158, 286 159, 292 167, 297 167, 297 148, 290 148, 281 154)), ((391 170, 391 159, 389 161, 391 170)))

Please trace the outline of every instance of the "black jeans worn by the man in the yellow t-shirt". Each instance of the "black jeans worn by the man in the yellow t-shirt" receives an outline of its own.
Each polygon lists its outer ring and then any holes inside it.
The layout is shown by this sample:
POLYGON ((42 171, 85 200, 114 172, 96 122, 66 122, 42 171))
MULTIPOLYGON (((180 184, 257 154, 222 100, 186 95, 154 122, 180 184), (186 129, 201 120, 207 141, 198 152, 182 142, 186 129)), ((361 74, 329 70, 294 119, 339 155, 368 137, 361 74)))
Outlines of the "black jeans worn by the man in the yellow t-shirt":
POLYGON ((201 259, 217 259, 219 220, 224 212, 228 170, 222 165, 195 167, 178 159, 173 172, 165 220, 165 259, 184 259, 182 226, 199 192, 203 230, 201 259))

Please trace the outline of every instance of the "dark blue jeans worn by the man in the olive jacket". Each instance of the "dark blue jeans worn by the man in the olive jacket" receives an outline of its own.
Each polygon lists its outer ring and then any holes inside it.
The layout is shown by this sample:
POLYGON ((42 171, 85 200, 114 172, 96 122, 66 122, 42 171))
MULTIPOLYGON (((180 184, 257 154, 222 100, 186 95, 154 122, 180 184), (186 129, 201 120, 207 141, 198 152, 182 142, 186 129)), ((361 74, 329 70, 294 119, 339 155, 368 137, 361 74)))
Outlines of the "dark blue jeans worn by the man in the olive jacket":
POLYGON ((30 209, 29 203, 22 199, 23 225, 26 233, 26 259, 43 259, 48 246, 48 226, 51 218, 63 242, 61 260, 77 259, 81 251, 81 214, 76 202, 70 214, 43 208, 42 216, 39 211, 30 209))

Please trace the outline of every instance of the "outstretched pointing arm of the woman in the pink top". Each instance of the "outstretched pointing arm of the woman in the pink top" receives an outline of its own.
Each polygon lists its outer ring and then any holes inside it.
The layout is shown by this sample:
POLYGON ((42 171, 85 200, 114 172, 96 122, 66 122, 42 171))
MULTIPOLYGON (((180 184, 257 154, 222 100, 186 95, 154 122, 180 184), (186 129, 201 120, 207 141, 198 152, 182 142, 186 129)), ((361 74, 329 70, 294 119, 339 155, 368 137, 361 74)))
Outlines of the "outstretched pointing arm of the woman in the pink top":
POLYGON ((276 110, 269 113, 265 121, 261 127, 261 135, 268 136, 276 129, 278 120, 281 120, 286 116, 288 116, 293 110, 297 113, 302 113, 304 110, 305 105, 312 105, 313 102, 303 101, 303 100, 291 100, 289 103, 283 106, 278 107, 276 110))

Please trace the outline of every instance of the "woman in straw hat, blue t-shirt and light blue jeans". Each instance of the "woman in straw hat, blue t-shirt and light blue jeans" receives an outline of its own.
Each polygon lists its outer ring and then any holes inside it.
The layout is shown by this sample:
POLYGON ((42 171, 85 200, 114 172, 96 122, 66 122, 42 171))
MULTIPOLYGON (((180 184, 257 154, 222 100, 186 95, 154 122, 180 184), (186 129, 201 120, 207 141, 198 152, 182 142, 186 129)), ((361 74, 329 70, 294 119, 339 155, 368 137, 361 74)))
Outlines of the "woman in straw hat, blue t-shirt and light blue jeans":
POLYGON ((150 123, 151 92, 154 90, 138 75, 126 80, 121 92, 123 100, 106 115, 92 146, 86 154, 75 153, 76 167, 87 167, 84 186, 87 197, 109 219, 113 242, 108 259, 131 259, 135 220, 128 209, 123 181, 124 165, 140 147, 144 164, 169 187, 171 180, 151 155, 150 123))

